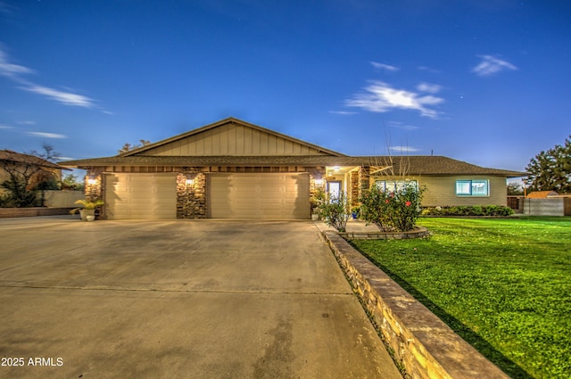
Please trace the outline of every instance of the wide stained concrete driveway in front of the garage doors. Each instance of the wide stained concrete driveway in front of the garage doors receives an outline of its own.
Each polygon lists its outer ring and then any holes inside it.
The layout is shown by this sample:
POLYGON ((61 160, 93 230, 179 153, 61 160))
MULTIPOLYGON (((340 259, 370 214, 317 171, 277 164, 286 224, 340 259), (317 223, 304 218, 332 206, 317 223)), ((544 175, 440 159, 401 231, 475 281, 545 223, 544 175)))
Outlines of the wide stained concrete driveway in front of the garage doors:
POLYGON ((401 377, 310 221, 2 219, 0 319, 6 378, 401 377))

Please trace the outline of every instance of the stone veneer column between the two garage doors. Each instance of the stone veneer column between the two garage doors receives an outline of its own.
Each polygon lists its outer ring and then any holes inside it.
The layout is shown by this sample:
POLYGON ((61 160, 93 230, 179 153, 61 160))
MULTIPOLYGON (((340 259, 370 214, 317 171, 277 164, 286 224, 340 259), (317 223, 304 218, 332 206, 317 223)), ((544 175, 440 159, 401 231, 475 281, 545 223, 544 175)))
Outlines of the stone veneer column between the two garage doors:
POLYGON ((197 171, 186 169, 177 176, 177 218, 206 218, 206 176, 197 171))

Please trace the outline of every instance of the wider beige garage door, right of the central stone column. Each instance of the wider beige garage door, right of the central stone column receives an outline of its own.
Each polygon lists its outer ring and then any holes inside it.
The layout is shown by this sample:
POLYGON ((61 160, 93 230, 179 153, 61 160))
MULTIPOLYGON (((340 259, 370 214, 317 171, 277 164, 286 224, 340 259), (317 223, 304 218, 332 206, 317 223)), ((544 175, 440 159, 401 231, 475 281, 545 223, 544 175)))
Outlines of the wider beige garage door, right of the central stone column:
POLYGON ((212 174, 211 218, 310 218, 309 174, 212 174))

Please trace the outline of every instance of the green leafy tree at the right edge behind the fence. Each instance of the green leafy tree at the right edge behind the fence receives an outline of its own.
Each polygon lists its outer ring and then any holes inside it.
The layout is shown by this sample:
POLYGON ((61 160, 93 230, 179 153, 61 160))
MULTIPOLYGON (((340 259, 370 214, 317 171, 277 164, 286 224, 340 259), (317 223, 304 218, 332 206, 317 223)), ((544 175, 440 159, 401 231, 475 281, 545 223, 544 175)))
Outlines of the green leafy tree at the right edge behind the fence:
POLYGON ((571 136, 535 155, 525 168, 531 191, 571 193, 571 136))

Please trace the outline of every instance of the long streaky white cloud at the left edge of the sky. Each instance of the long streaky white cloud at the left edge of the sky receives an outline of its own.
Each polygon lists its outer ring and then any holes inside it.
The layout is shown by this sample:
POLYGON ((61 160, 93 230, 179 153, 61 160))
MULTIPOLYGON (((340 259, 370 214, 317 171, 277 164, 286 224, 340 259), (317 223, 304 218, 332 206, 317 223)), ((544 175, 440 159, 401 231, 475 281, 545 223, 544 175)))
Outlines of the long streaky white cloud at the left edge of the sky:
POLYGON ((11 78, 13 81, 19 83, 21 85, 21 87, 19 87, 20 89, 39 95, 45 95, 48 98, 64 105, 79 106, 85 108, 91 108, 95 106, 95 101, 87 96, 40 86, 22 77, 25 74, 31 74, 34 72, 34 70, 31 70, 28 67, 11 63, 8 54, 4 52, 2 45, 0 45, 0 75, 11 78))

